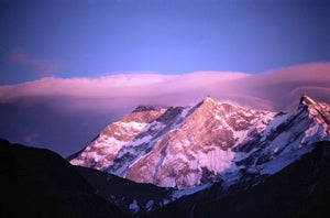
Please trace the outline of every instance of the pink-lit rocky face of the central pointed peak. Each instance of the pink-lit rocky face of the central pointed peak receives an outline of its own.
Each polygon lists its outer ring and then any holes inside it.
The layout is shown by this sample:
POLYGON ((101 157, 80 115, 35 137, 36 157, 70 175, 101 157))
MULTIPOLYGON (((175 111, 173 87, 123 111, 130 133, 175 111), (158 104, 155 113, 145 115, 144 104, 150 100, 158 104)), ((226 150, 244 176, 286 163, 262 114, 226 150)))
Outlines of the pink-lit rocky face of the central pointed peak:
POLYGON ((148 154, 133 163, 125 177, 180 189, 216 181, 231 164, 234 153, 230 148, 238 135, 268 121, 261 115, 267 113, 206 98, 189 109, 148 154))

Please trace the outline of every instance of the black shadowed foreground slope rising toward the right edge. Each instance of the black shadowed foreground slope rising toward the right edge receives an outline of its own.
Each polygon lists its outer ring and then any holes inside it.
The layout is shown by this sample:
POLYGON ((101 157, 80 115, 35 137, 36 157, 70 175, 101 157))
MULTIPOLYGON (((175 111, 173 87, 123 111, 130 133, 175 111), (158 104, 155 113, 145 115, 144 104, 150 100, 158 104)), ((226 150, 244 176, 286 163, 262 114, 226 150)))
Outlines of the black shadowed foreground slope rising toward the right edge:
POLYGON ((315 149, 264 183, 221 196, 213 184, 150 217, 329 217, 330 142, 315 149))

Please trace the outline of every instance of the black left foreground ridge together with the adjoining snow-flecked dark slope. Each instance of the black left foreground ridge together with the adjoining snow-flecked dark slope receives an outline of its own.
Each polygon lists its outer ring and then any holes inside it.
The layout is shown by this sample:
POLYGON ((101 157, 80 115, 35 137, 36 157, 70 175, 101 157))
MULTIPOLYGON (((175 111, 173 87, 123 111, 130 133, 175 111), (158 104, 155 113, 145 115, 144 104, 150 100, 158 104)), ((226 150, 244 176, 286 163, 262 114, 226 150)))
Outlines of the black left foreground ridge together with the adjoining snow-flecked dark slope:
POLYGON ((186 195, 73 166, 50 150, 7 140, 0 140, 0 192, 1 218, 141 217, 186 195))

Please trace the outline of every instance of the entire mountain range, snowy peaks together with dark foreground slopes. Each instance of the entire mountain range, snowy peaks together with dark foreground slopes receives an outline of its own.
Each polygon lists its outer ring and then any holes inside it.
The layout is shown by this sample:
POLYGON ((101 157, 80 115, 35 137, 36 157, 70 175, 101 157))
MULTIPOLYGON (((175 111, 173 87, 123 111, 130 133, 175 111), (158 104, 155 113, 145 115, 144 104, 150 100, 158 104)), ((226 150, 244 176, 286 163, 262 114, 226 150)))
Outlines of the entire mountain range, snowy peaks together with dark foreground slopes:
POLYGON ((138 107, 76 165, 0 140, 0 217, 328 217, 329 121, 308 95, 288 113, 207 97, 138 107))

